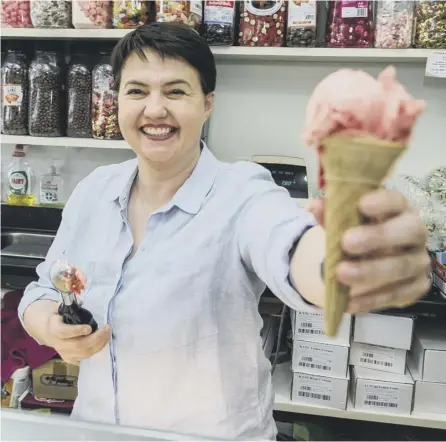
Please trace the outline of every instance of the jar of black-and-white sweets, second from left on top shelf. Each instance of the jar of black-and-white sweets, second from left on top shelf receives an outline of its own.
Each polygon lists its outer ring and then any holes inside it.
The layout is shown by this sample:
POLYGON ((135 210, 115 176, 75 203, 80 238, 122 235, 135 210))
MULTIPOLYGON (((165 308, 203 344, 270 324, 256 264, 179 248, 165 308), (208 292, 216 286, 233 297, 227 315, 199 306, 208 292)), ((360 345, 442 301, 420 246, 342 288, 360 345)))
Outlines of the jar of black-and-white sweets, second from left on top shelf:
POLYGON ((71 1, 33 0, 31 21, 35 28, 70 28, 71 1))

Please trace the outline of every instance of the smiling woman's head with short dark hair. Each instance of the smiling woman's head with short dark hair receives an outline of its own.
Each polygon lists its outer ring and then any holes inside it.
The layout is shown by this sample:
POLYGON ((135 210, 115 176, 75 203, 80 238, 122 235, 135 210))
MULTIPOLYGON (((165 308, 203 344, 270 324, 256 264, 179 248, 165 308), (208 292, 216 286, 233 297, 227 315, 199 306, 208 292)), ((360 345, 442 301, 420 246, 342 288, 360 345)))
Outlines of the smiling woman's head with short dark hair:
POLYGON ((215 62, 188 26, 141 27, 116 46, 112 65, 119 90, 119 124, 141 161, 158 167, 196 157, 212 111, 215 62), (188 33, 188 44, 182 38, 188 33), (146 42, 156 42, 147 46, 146 42))

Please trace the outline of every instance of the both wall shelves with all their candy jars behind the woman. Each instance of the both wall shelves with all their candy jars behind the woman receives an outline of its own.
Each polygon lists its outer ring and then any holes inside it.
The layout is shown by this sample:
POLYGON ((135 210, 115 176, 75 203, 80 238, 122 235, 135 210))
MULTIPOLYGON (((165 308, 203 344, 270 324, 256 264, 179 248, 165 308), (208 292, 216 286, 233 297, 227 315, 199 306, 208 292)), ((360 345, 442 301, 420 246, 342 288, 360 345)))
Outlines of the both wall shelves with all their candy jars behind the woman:
POLYGON ((446 1, 344 3, 3 1, 2 50, 14 53, 2 53, 2 143, 128 148, 109 56, 153 21, 186 23, 217 59, 247 62, 424 63, 446 48, 446 1))

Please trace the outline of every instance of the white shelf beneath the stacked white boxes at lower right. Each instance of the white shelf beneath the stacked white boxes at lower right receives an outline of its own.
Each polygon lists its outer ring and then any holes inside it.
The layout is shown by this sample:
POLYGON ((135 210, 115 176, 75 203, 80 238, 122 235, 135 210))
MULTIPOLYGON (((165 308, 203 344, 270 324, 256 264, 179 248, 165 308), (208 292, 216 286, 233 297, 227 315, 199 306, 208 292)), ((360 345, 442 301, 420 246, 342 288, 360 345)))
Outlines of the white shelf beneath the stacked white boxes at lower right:
POLYGON ((290 399, 291 378, 292 373, 289 364, 281 364, 276 367, 273 377, 274 390, 276 393, 274 410, 276 411, 446 430, 446 414, 435 415, 412 413, 410 415, 398 415, 392 413, 362 411, 354 409, 351 400, 349 400, 346 410, 337 410, 335 408, 319 407, 316 405, 303 405, 292 402, 290 399))

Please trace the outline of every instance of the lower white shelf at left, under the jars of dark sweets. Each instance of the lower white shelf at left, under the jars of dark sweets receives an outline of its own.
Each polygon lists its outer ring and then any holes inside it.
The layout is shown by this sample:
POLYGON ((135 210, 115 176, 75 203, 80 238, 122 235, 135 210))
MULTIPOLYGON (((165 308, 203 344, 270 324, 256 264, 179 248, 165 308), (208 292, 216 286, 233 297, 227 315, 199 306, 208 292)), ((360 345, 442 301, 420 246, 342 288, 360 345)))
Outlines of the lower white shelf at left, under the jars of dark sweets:
POLYGON ((130 149, 130 146, 124 140, 97 140, 95 138, 1 135, 1 143, 27 144, 31 146, 90 147, 95 149, 130 149))

